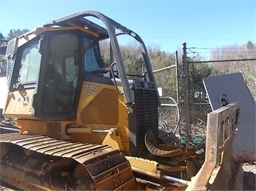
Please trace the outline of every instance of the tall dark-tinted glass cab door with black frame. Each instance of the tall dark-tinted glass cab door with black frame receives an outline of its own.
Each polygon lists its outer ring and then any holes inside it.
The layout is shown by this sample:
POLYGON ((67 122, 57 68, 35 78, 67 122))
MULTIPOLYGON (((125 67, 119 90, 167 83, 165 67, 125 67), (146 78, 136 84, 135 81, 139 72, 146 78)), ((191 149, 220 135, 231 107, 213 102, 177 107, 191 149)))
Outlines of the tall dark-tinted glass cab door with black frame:
POLYGON ((79 38, 79 32, 74 30, 54 31, 46 35, 37 91, 40 105, 36 116, 75 119, 81 89, 78 81, 82 66, 79 38))

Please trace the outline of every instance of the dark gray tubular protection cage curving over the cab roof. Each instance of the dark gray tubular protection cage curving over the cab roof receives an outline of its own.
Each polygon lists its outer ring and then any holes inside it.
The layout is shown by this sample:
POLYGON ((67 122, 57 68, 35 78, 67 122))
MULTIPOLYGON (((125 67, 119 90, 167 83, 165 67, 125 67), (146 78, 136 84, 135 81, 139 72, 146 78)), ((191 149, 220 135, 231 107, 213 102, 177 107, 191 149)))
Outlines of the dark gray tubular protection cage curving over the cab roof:
MULTIPOLYGON (((52 20, 51 22, 48 22, 44 26, 79 26, 79 27, 87 27, 90 26, 90 31, 94 31, 97 34, 99 34, 99 40, 104 40, 105 38, 109 38, 111 41, 111 47, 112 51, 115 56, 115 62, 117 62, 117 69, 118 73, 120 76, 121 84, 124 89, 124 96, 126 98, 126 104, 127 105, 133 105, 135 102, 135 99, 132 94, 132 90, 130 89, 130 84, 126 75, 126 71, 124 68, 124 62, 121 56, 121 51, 120 47, 118 45, 117 41, 117 35, 122 35, 122 34, 127 34, 130 35, 131 37, 135 38, 139 43, 142 45, 142 56, 144 58, 145 66, 147 68, 147 74, 148 78, 151 82, 155 84, 156 87, 156 81, 154 79, 153 71, 151 68, 150 64, 150 59, 148 57, 147 53, 147 48, 145 47, 145 44, 141 37, 139 37, 138 34, 135 32, 131 31, 130 29, 126 28, 123 25, 120 25, 119 23, 115 22, 114 20, 110 19, 109 17, 105 16, 102 13, 99 13, 98 11, 80 11, 78 13, 71 14, 66 17, 62 17, 60 19, 52 20), (102 28, 101 26, 97 25, 96 23, 91 22, 88 19, 85 19, 84 17, 96 17, 97 19, 101 20, 104 25, 106 26, 105 28, 102 28), (121 31, 121 34, 116 34, 115 29, 118 29, 121 31)), ((157 98, 158 98, 158 103, 160 103, 160 98, 159 94, 157 92, 157 98)))

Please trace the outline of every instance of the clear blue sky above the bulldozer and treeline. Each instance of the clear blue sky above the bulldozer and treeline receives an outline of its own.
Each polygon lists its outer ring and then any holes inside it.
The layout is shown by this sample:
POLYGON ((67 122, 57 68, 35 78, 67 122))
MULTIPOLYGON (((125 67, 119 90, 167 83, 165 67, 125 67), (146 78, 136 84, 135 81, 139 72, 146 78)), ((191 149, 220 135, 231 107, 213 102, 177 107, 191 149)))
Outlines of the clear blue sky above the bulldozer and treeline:
POLYGON ((97 10, 138 33, 146 46, 175 51, 256 43, 256 1, 0 0, 0 31, 33 29, 82 10, 97 10))

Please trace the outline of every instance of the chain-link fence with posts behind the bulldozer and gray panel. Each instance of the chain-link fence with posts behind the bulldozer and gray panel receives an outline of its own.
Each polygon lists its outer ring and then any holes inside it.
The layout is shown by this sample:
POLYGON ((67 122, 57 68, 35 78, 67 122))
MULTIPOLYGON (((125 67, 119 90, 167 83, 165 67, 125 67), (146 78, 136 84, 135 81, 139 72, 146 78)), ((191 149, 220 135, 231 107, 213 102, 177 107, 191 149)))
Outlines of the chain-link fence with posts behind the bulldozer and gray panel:
MULTIPOLYGON (((183 55, 184 51, 186 51, 186 47, 183 49, 183 55)), ((207 62, 195 61, 186 56, 183 57, 182 61, 179 60, 175 64, 172 63, 171 66, 153 71, 161 99, 159 107, 160 125, 165 125, 165 128, 172 132, 178 130, 183 135, 187 134, 186 129, 188 127, 191 137, 206 135, 207 114, 212 112, 212 108, 203 84, 203 78, 228 74, 222 71, 223 68, 217 67, 218 65, 211 62, 211 60, 207 62), (184 69, 184 64, 187 65, 187 71, 184 69), (186 81, 187 86, 184 85, 186 81), (184 101, 187 100, 185 99, 186 96, 188 101, 184 101)), ((255 62, 255 60, 250 62, 236 60, 236 68, 231 65, 233 68, 229 68, 229 72, 241 72, 238 66, 248 68, 255 62)), ((221 60, 219 65, 222 65, 222 63, 224 62, 221 60)), ((252 68, 248 74, 245 72, 243 74, 246 83, 252 89, 252 95, 255 97, 255 75, 251 75, 252 72, 255 73, 254 70, 252 68)))

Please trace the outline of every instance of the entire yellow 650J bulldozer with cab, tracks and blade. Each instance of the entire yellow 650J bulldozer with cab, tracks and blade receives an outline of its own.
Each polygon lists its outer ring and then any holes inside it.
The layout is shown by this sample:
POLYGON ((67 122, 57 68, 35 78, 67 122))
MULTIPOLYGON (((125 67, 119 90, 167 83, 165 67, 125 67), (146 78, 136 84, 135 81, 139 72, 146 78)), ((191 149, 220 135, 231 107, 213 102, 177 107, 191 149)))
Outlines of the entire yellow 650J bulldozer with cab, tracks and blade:
POLYGON ((19 133, 0 135, 1 181, 22 190, 242 189, 232 154, 239 103, 208 114, 206 141, 180 143, 159 128, 144 42, 104 14, 53 20, 11 40, 6 55, 4 115, 16 119, 19 133), (138 41, 145 74, 126 72, 120 35, 138 41))

